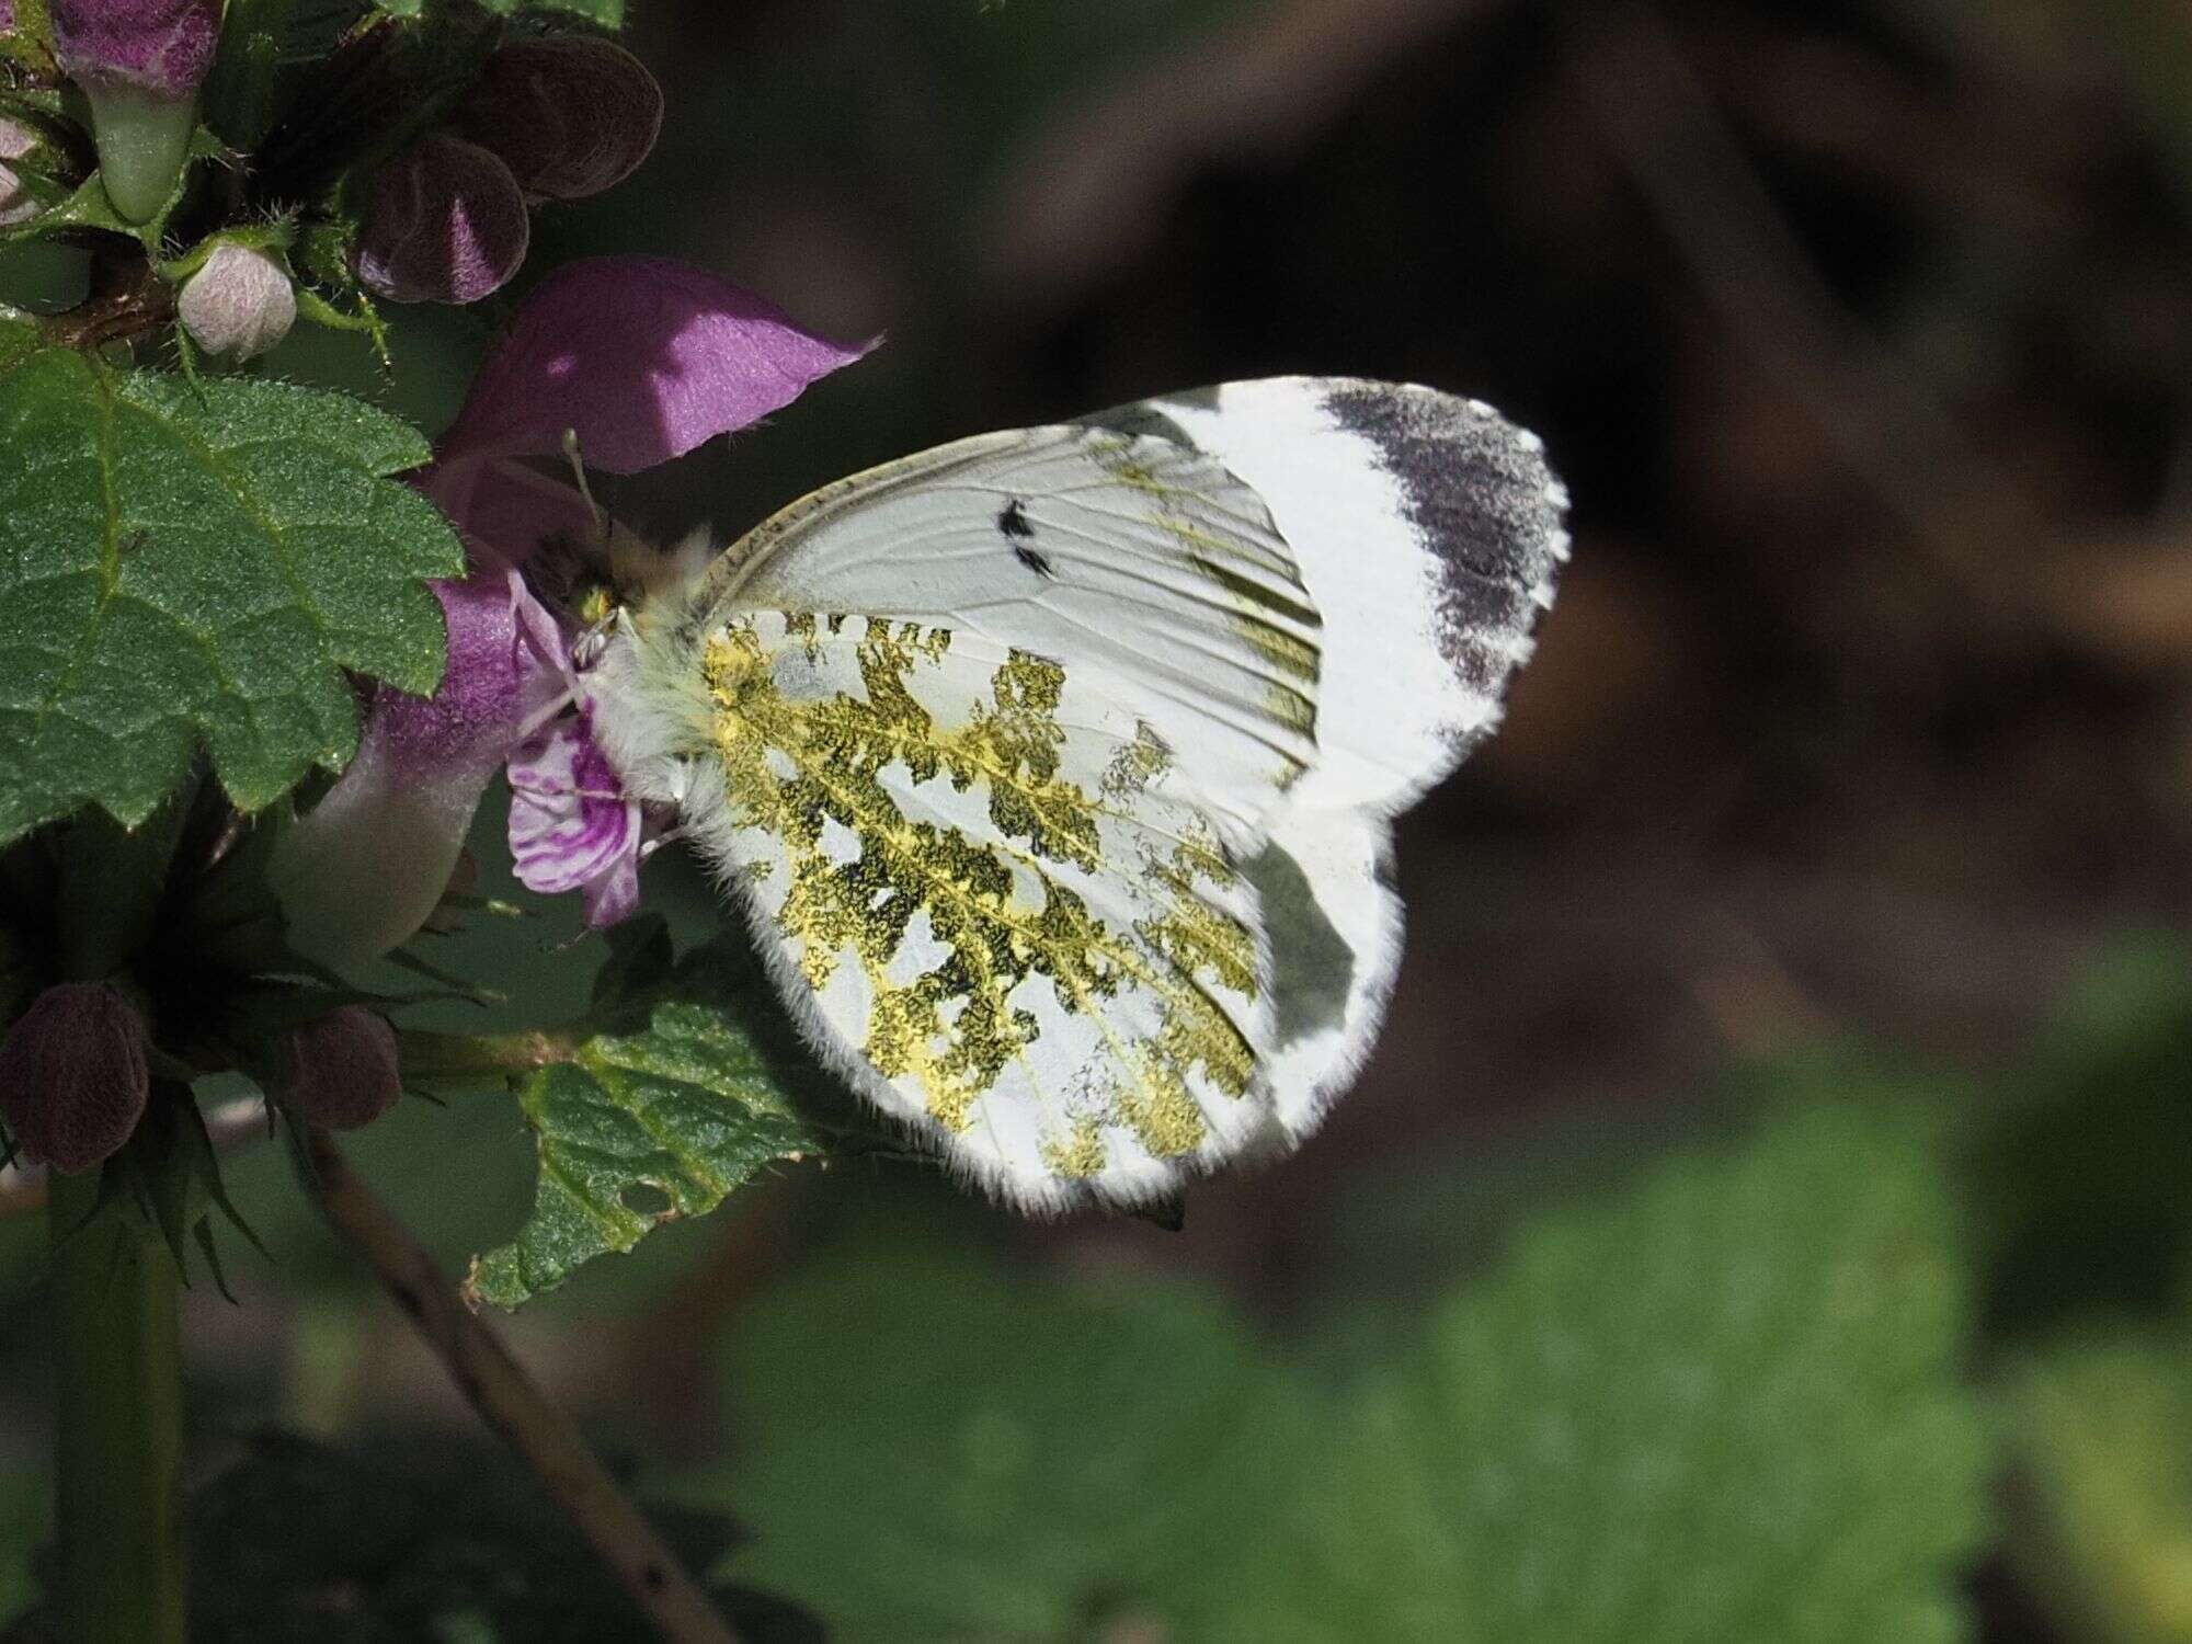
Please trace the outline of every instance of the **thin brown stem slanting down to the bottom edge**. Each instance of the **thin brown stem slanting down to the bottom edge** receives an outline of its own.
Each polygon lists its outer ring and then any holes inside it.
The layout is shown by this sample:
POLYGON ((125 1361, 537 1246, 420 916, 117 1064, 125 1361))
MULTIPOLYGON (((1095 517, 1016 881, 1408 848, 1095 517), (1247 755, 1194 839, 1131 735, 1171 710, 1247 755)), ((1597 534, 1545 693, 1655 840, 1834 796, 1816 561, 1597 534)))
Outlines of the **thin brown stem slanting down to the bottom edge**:
POLYGON ((730 1624, 616 1486, 570 1416, 541 1396, 502 1339, 458 1300, 432 1254, 351 1171, 324 1131, 307 1138, 307 1186, 320 1214, 373 1269, 480 1420, 524 1458, 662 1635, 673 1644, 737 1644, 730 1624))

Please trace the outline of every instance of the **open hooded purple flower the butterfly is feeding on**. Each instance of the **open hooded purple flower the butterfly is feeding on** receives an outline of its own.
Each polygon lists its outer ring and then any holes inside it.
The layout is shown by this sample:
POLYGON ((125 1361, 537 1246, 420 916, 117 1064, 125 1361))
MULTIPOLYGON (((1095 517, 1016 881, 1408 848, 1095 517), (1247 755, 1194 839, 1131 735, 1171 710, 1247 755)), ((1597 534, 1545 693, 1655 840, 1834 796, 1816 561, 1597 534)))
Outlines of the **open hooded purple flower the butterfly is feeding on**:
POLYGON ((614 923, 638 894, 640 818, 579 719, 570 638, 511 566, 596 522, 533 458, 631 473, 747 427, 861 357, 767 302, 651 256, 574 263, 520 307, 421 480, 476 570, 441 585, 449 671, 430 699, 379 690, 357 758, 276 853, 292 940, 327 964, 386 954, 432 914, 495 767, 513 769, 511 844, 535 888, 579 888, 614 923))

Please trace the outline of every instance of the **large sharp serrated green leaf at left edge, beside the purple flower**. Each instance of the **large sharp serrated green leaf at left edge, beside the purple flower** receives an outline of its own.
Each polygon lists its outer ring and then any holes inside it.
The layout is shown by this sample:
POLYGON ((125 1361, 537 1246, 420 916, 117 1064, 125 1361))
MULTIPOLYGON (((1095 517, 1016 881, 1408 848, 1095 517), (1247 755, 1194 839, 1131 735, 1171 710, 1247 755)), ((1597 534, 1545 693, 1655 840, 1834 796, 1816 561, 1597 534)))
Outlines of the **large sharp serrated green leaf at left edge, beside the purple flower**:
POLYGON ((85 802, 142 822, 199 743, 246 811, 357 747, 344 669, 432 690, 463 572, 388 476, 425 441, 342 395, 0 368, 0 842, 85 802))

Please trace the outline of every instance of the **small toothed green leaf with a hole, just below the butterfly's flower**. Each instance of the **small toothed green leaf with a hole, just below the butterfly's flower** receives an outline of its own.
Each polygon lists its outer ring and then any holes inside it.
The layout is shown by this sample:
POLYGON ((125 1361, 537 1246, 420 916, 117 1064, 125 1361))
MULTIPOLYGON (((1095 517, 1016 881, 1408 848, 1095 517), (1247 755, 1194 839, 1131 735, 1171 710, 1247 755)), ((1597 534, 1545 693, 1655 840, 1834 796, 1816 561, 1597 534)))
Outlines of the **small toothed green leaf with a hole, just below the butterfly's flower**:
POLYGON ((467 1295, 522 1306, 669 1219, 704 1217, 772 1164, 826 1144, 783 1096, 776 1057, 717 1004, 666 1000, 640 1032, 601 1032, 526 1081, 539 1146, 533 1212, 473 1258, 467 1295))

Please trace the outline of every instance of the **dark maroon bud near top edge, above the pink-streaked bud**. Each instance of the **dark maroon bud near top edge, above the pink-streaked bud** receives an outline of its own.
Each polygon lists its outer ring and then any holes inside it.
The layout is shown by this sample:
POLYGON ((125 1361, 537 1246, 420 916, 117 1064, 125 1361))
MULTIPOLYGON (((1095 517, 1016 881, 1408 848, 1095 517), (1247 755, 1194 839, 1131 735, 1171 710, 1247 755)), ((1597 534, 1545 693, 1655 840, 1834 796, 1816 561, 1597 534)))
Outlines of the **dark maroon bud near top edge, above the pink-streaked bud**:
POLYGON ((653 151, 662 88, 607 39, 524 39, 487 59, 456 123, 502 156, 528 195, 585 199, 653 151))

